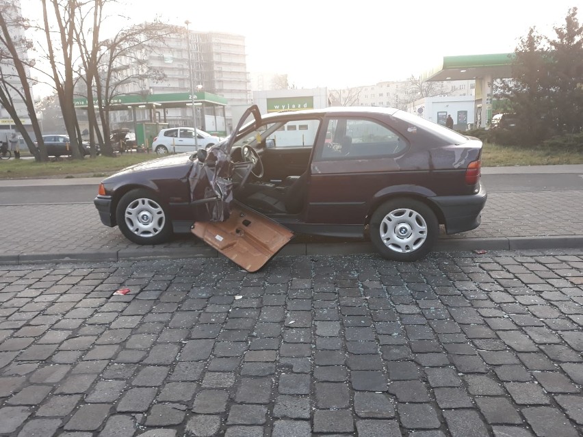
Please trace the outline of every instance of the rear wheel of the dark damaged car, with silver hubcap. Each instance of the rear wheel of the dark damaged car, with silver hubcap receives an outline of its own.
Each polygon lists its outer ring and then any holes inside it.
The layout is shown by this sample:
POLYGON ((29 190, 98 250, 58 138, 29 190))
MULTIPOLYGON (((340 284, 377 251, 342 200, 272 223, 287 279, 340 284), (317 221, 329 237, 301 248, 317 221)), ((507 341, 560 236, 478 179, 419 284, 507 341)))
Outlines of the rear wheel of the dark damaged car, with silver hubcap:
POLYGON ((439 235, 439 222, 428 205, 410 198, 391 199, 370 219, 370 239, 376 250, 393 261, 417 261, 426 256, 439 235))

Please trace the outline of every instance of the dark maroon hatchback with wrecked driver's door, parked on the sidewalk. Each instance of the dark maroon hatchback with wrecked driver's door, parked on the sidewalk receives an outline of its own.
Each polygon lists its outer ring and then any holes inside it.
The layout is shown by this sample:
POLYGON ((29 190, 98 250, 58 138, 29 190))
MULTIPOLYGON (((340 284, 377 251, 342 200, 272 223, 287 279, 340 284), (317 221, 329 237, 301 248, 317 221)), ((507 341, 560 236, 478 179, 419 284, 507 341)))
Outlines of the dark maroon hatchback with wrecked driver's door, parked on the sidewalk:
POLYGON ((252 106, 219 144, 105 178, 94 204, 103 224, 135 243, 190 230, 235 262, 271 256, 281 246, 265 249, 269 241, 283 236, 285 244, 289 230, 368 233, 387 259, 415 261, 431 250, 439 224, 449 234, 480 224, 481 151, 480 140, 397 109, 262 117, 252 106))

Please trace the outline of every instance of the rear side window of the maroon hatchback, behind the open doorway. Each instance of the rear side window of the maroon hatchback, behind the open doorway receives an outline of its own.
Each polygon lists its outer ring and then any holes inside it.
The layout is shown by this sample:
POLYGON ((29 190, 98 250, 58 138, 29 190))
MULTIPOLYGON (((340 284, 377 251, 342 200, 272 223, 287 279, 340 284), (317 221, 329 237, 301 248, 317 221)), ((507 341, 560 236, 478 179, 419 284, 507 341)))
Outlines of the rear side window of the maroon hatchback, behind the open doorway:
POLYGON ((409 143, 383 124, 359 118, 333 118, 326 125, 321 158, 363 159, 399 155, 409 143))

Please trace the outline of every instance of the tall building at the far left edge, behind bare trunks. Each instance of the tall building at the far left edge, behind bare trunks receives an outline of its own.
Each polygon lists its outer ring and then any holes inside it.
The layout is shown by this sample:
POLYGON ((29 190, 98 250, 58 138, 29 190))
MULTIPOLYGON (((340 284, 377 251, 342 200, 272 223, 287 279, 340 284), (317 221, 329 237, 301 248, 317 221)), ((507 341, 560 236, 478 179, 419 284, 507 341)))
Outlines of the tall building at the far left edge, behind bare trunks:
MULTIPOLYGON (((10 37, 14 42, 16 49, 18 50, 18 56, 26 60, 28 59, 26 45, 25 45, 25 31, 20 23, 20 18, 22 16, 21 12, 21 2, 20 0, 0 0, 0 14, 2 14, 8 29, 10 30, 10 37)), ((0 51, 5 51, 4 47, 0 48, 0 51)), ((28 115, 27 107, 23 98, 14 92, 11 87, 14 86, 17 89, 22 87, 21 80, 18 78, 16 68, 14 68, 14 62, 12 59, 6 57, 0 57, 0 70, 2 73, 2 81, 5 91, 10 92, 12 96, 12 101, 14 103, 14 108, 16 109, 16 114, 18 118, 21 119, 26 127, 30 126, 30 118, 28 115), (8 86, 5 86, 8 85, 8 86)), ((25 66, 25 71, 27 77, 30 77, 30 71, 27 66, 25 66)), ((32 85, 32 81, 30 81, 32 85)), ((27 129, 28 130, 28 129, 27 129)), ((14 131, 14 122, 8 111, 0 105, 0 140, 5 141, 5 136, 14 131)))

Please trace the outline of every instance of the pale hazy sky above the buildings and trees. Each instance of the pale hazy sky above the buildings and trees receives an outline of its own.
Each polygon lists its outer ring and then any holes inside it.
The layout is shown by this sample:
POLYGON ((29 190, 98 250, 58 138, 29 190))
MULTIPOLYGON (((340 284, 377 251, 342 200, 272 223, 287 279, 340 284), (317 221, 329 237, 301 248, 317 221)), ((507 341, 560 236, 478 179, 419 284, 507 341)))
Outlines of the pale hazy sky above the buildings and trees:
MULTIPOLYGON (((38 0, 21 0, 38 14, 38 0)), ((247 70, 287 74, 297 88, 346 88, 405 80, 443 56, 510 53, 535 26, 552 36, 583 0, 330 1, 118 0, 135 23, 159 18, 246 37, 247 70)), ((111 12, 114 11, 112 6, 111 12)), ((107 30, 128 21, 112 16, 107 30)))

